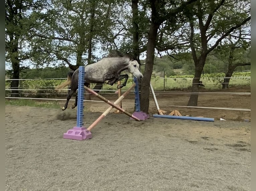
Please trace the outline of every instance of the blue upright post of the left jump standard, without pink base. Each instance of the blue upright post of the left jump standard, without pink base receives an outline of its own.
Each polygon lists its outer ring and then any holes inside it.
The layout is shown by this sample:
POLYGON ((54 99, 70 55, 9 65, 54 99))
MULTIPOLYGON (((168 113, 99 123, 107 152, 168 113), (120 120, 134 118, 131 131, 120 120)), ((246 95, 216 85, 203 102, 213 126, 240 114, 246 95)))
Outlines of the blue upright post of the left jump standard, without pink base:
POLYGON ((77 127, 83 127, 84 118, 84 88, 85 84, 85 67, 79 67, 79 81, 78 81, 78 105, 77 105, 77 127))

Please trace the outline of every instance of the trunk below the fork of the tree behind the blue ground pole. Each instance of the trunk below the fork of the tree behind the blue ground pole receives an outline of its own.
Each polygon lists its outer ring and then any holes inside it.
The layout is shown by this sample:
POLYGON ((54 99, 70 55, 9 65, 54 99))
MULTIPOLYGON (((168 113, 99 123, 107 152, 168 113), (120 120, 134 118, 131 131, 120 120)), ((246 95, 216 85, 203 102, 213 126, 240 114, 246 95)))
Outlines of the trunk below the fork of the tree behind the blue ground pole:
MULTIPOLYGON (((195 64, 195 76, 193 78, 192 82, 192 93, 199 92, 199 81, 201 78, 201 74, 205 65, 206 58, 201 58, 196 64, 195 64)), ((187 106, 197 106, 198 103, 198 94, 191 94, 188 100, 187 106)))

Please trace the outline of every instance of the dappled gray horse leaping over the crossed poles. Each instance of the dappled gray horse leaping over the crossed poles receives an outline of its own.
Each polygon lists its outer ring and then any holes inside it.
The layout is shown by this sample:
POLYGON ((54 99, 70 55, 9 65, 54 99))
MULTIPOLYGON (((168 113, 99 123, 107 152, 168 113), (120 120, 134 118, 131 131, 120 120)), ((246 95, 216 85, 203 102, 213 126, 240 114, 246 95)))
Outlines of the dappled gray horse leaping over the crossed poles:
MULTIPOLYGON (((121 72, 124 70, 128 70, 134 77, 141 81, 143 75, 140 71, 139 64, 136 59, 132 58, 131 56, 123 56, 114 55, 108 56, 96 63, 86 65, 85 66, 85 86, 88 87, 89 83, 95 83, 95 87, 99 87, 100 84, 109 84, 113 86, 117 81, 125 79, 123 84, 117 86, 117 89, 120 89, 126 86, 129 76, 127 74, 121 75, 121 72)), ((67 95, 67 101, 64 107, 61 109, 64 111, 68 107, 69 100, 71 96, 77 91, 78 89, 78 77, 79 76, 79 69, 75 72, 69 72, 68 79, 66 82, 63 82, 55 89, 62 89, 66 86, 71 85, 69 93, 67 95)), ((99 90, 95 91, 99 92, 99 90)), ((72 109, 77 106, 78 96, 76 95, 76 101, 74 105, 72 105, 72 109)))

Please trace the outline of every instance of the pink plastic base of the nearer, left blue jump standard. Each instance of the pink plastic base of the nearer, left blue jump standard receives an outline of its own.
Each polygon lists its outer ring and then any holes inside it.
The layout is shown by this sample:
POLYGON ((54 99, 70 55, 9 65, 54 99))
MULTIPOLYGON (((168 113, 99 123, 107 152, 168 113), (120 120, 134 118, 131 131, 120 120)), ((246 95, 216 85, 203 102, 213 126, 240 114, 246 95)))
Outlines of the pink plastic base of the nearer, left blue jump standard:
POLYGON ((73 127, 63 134, 64 139, 85 140, 92 138, 92 133, 85 127, 73 127))

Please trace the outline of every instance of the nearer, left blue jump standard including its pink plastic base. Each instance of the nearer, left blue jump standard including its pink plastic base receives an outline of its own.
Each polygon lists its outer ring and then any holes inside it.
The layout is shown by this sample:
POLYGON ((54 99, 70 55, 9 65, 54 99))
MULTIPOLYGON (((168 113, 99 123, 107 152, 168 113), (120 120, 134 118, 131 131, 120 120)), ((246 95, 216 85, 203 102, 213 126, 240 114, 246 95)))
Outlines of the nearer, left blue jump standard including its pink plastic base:
POLYGON ((83 126, 84 117, 84 84, 85 84, 85 67, 79 67, 78 81, 78 105, 77 105, 77 126, 69 129, 63 134, 65 139, 84 140, 92 138, 92 133, 83 126))

